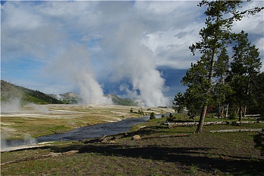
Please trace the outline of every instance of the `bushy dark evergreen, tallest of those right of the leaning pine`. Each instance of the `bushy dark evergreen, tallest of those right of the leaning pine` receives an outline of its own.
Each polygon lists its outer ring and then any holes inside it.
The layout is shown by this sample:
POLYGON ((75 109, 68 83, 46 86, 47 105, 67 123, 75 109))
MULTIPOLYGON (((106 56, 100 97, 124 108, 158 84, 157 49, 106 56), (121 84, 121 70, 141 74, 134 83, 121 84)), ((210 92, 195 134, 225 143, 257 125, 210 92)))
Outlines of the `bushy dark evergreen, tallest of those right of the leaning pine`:
POLYGON ((231 62, 231 85, 234 91, 232 95, 235 97, 235 107, 239 110, 239 120, 242 120, 242 109, 244 115, 246 113, 247 104, 250 101, 252 94, 252 78, 260 72, 261 61, 259 58, 258 49, 255 45, 248 42, 247 33, 241 31, 236 35, 233 47, 233 61, 231 62))

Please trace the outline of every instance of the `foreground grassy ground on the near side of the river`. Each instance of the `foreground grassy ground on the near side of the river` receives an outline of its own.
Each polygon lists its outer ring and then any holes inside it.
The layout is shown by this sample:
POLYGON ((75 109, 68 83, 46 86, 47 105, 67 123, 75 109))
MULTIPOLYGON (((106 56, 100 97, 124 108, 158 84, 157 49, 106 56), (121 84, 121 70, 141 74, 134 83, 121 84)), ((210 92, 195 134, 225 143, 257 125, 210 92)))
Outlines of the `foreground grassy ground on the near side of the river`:
MULTIPOLYGON (((176 116, 176 120, 189 120, 184 114, 176 116)), ((117 138, 113 144, 54 142, 4 152, 1 163, 15 162, 2 164, 1 175, 264 175, 264 156, 254 148, 253 142, 257 132, 209 132, 263 128, 263 124, 211 125, 204 126, 203 133, 193 134, 196 127, 168 129, 160 125, 165 122, 166 118, 162 118, 135 125, 127 135, 113 135, 117 138), (130 140, 136 134, 143 139, 130 140), (169 134, 190 136, 144 139, 169 134), (62 154, 72 150, 78 152, 62 154), (48 154, 56 156, 43 157, 48 154)))

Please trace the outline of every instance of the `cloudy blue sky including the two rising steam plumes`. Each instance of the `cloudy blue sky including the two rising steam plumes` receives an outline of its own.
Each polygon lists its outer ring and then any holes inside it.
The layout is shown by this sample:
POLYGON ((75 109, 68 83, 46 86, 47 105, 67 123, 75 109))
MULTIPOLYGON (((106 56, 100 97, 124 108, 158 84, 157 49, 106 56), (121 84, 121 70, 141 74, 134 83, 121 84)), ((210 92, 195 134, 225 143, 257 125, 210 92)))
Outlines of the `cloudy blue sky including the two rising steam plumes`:
MULTIPOLYGON (((76 92, 86 104, 105 94, 171 106, 200 41, 200 1, 2 1, 1 79, 46 94, 76 92)), ((263 1, 244 1, 242 9, 263 1)), ((263 11, 233 24, 259 48, 263 11)), ((264 70, 263 64, 261 70, 264 70)))

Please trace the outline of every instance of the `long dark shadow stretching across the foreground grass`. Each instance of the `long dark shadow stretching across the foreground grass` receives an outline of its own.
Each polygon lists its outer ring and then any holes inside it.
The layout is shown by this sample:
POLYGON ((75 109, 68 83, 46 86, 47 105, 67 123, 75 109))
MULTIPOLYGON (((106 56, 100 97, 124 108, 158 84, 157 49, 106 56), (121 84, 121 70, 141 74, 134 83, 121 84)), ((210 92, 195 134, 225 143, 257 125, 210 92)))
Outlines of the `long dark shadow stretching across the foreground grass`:
POLYGON ((116 144, 105 145, 73 145, 65 148, 53 148, 54 152, 66 152, 70 150, 79 150, 79 153, 99 153, 108 156, 136 157, 143 159, 152 159, 163 162, 175 162, 175 165, 191 166, 193 164, 200 168, 210 171, 218 171, 232 174, 263 175, 264 160, 250 158, 212 158, 206 156, 209 150, 215 148, 188 148, 188 147, 170 147, 170 146, 126 146, 116 144))

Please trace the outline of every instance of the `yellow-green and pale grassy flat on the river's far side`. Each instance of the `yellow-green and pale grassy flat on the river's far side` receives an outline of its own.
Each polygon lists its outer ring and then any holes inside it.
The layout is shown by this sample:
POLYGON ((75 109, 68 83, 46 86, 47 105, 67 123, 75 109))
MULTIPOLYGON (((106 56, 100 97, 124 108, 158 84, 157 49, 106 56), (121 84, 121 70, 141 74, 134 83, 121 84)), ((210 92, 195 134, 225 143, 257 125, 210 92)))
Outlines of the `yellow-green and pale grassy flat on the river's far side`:
MULTIPOLYGON (((130 109, 130 106, 26 105, 13 114, 1 114, 1 131, 3 134, 8 133, 6 139, 23 139, 26 135, 36 138, 52 134, 52 131, 69 131, 82 126, 141 116, 130 113, 130 109)), ((146 108, 142 110, 148 112, 146 108)), ((168 108, 164 110, 156 108, 151 112, 172 111, 168 108)))

